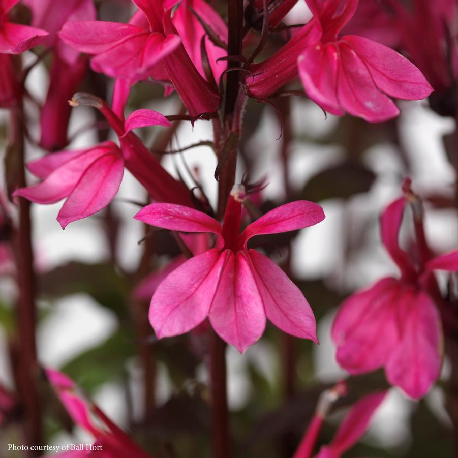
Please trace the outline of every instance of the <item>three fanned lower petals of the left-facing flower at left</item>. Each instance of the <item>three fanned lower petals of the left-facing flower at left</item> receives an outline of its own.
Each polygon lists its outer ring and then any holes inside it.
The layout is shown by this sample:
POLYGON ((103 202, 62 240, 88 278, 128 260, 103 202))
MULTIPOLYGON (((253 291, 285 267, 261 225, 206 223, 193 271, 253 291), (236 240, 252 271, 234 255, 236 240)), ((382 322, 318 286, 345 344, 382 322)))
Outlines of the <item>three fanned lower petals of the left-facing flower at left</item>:
POLYGON ((43 181, 13 195, 41 204, 66 198, 57 216, 64 229, 111 202, 123 179, 124 159, 120 149, 106 141, 89 149, 48 154, 29 163, 28 169, 43 181))

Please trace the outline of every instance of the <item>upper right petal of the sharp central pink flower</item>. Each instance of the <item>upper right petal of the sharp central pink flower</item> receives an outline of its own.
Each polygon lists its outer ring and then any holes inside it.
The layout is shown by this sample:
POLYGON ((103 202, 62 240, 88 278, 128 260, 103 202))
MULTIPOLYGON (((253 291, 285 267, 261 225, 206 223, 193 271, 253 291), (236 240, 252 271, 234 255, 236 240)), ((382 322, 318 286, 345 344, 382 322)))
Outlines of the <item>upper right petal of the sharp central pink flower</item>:
POLYGON ((323 220, 324 212, 320 205, 307 200, 297 200, 274 208, 249 224, 240 234, 240 240, 247 248, 248 240, 255 235, 295 231, 323 220))

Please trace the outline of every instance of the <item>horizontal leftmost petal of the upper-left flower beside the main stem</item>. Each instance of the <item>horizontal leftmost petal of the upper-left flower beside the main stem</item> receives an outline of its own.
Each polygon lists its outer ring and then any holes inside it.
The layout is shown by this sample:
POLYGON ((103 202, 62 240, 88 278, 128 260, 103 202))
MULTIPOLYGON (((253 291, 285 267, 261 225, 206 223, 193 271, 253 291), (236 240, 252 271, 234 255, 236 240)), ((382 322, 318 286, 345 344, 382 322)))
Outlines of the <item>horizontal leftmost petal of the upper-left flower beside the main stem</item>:
POLYGON ((143 28, 121 22, 80 21, 65 23, 59 38, 80 52, 98 54, 131 35, 144 32, 143 28))

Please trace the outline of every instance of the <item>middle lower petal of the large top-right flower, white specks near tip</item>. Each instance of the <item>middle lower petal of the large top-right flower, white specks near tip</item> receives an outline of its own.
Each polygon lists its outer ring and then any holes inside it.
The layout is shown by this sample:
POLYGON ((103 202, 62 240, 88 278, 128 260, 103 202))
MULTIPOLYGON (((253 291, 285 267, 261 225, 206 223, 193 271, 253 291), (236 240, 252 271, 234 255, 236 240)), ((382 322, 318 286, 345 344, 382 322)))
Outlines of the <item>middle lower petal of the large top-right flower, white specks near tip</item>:
POLYGON ((394 102, 374 84, 360 57, 343 41, 338 42, 338 99, 345 111, 370 123, 381 123, 398 116, 394 102))

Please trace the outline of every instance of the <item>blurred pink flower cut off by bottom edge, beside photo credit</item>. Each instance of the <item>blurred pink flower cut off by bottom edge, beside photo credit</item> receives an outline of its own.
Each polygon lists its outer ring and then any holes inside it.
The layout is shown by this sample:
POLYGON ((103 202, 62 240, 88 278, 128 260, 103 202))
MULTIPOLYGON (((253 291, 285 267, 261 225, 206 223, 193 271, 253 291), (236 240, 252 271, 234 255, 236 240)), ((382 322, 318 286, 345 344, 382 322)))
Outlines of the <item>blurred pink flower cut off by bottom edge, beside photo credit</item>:
POLYGON ((47 369, 46 376, 72 420, 96 439, 92 446, 95 451, 86 450, 83 444, 83 450, 64 452, 57 455, 59 458, 95 454, 103 458, 151 458, 94 403, 84 399, 75 383, 65 374, 47 369))

